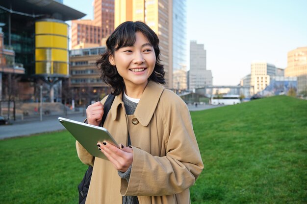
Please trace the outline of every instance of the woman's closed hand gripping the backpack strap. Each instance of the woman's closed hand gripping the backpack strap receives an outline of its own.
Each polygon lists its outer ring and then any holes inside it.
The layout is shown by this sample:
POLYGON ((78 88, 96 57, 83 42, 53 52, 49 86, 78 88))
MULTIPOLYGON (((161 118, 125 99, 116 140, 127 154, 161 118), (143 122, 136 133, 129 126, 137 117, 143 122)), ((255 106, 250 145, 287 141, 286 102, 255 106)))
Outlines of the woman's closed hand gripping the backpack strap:
POLYGON ((99 126, 102 121, 103 105, 100 101, 89 105, 86 109, 87 123, 99 126))

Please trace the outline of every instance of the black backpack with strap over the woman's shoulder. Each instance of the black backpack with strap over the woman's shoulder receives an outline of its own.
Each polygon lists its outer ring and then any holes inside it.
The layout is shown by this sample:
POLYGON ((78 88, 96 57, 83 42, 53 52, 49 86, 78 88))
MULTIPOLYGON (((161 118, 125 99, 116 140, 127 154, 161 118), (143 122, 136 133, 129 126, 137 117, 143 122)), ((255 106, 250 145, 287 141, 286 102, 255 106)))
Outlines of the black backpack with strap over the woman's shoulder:
MULTIPOLYGON (((102 122, 100 124, 101 127, 103 126, 103 123, 105 121, 106 115, 108 114, 108 112, 109 112, 109 110, 110 110, 110 108, 112 106, 114 98, 115 98, 115 95, 109 94, 109 96, 107 97, 106 101, 103 104, 103 116, 102 116, 102 122)), ((78 185, 79 204, 85 204, 87 193, 88 193, 88 189, 90 187, 90 182, 91 182, 91 178, 92 178, 92 172, 93 172, 93 167, 90 165, 88 167, 88 169, 86 170, 85 175, 84 175, 82 181, 78 185)))

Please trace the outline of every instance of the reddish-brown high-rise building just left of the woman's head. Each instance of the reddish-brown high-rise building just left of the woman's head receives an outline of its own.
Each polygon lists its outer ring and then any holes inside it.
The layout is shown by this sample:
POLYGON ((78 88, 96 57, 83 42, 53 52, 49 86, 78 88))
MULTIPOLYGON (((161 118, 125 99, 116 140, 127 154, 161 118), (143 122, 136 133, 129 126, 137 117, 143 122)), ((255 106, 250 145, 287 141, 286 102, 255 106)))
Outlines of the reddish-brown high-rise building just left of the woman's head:
POLYGON ((94 20, 72 21, 72 49, 103 45, 114 31, 114 0, 94 0, 94 20))

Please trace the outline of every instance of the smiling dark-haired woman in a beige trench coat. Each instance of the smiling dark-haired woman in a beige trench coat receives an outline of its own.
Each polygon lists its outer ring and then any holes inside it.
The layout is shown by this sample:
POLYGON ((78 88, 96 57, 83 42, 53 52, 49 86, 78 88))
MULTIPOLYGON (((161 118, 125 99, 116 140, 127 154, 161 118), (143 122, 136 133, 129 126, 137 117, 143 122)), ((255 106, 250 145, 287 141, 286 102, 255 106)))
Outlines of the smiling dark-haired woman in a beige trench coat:
MULTIPOLYGON (((98 143, 104 160, 76 143, 80 160, 94 167, 86 204, 190 203, 204 166, 186 104, 160 85, 158 44, 142 22, 122 23, 106 41, 97 65, 116 97, 103 127, 120 147, 98 143)), ((89 124, 100 124, 105 100, 87 108, 89 124)))

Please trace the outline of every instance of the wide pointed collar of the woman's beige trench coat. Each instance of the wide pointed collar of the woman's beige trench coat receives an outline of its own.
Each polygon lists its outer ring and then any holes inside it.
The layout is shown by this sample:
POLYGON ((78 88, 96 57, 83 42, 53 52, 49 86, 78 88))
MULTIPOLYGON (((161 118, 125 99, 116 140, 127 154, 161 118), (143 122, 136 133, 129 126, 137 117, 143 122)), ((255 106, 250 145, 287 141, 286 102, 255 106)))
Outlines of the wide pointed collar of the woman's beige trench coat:
MULTIPOLYGON (((149 124, 163 90, 164 87, 160 84, 153 81, 148 82, 134 112, 134 116, 138 119, 141 125, 147 126, 149 124)), ((122 94, 117 95, 113 101, 111 107, 111 114, 113 120, 116 120, 117 118, 118 108, 120 105, 124 107, 122 94)))

